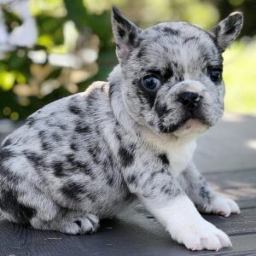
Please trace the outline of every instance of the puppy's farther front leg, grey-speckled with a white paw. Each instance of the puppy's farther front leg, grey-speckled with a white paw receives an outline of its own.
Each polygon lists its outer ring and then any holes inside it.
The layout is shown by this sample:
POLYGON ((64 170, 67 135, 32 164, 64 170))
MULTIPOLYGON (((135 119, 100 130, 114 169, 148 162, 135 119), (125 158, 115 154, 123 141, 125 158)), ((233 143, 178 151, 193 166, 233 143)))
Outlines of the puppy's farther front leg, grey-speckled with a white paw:
POLYGON ((212 212, 226 217, 231 213, 240 212, 235 201, 214 192, 208 186, 194 164, 190 164, 178 179, 184 191, 201 212, 212 212))

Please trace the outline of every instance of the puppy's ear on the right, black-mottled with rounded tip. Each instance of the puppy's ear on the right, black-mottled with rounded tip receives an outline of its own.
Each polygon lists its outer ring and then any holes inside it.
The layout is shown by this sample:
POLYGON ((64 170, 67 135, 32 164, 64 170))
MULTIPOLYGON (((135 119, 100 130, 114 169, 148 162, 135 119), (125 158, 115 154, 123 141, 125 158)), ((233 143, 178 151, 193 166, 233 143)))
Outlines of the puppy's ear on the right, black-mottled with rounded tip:
POLYGON ((221 20, 217 26, 214 26, 210 33, 215 38, 219 49, 224 50, 233 43, 241 32, 243 24, 243 15, 240 12, 232 13, 224 20, 221 20))

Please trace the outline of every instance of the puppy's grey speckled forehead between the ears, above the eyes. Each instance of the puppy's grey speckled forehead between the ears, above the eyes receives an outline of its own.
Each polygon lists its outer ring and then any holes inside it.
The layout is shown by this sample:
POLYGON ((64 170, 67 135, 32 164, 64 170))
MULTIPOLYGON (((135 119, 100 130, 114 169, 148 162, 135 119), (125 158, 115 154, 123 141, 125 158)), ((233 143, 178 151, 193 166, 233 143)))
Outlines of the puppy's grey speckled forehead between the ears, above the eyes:
POLYGON ((222 57, 207 32, 186 22, 166 22, 140 33, 131 60, 142 67, 171 66, 190 73, 198 67, 220 65, 222 57))

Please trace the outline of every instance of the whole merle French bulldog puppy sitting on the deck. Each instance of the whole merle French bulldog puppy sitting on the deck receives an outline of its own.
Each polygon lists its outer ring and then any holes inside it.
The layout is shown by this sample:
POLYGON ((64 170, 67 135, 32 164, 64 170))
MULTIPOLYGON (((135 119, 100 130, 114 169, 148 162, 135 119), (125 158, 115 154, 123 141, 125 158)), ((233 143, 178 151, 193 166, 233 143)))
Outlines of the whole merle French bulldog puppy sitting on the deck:
POLYGON ((137 198, 192 250, 229 247, 198 212, 229 216, 193 163, 195 139, 224 112, 222 53, 241 13, 206 32, 186 22, 141 30, 113 8, 119 65, 108 82, 52 102, 3 142, 0 209, 12 222, 68 234, 137 198))

